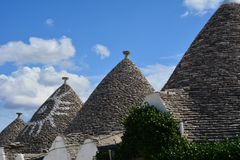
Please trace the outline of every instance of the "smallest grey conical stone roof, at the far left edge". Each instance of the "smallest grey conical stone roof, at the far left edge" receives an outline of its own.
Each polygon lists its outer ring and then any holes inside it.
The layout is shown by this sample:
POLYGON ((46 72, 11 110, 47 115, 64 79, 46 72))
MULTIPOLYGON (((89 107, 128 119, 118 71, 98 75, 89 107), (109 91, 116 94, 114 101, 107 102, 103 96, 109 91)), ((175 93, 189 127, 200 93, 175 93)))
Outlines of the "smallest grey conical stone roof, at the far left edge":
POLYGON ((18 134, 26 126, 26 123, 20 117, 21 114, 17 114, 18 117, 0 133, 0 147, 15 142, 18 134))

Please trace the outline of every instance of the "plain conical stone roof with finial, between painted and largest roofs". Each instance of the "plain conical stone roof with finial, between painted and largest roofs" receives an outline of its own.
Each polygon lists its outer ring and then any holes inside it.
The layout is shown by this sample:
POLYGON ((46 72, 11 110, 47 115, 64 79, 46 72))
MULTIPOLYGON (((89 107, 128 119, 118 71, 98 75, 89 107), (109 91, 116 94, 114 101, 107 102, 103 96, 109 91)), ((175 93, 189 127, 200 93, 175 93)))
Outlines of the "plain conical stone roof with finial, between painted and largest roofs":
POLYGON ((126 55, 100 82, 66 132, 101 135, 122 130, 129 109, 152 92, 151 85, 126 55))

